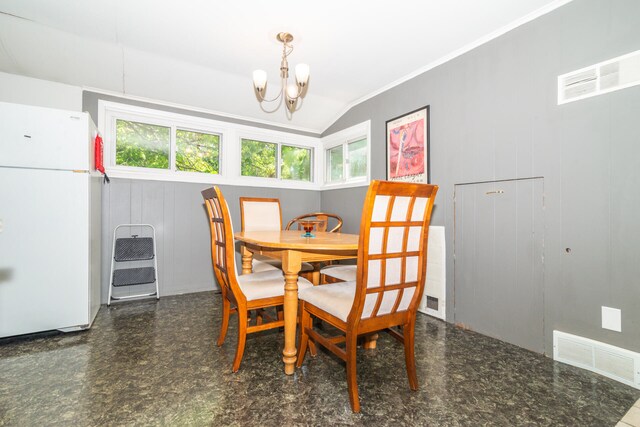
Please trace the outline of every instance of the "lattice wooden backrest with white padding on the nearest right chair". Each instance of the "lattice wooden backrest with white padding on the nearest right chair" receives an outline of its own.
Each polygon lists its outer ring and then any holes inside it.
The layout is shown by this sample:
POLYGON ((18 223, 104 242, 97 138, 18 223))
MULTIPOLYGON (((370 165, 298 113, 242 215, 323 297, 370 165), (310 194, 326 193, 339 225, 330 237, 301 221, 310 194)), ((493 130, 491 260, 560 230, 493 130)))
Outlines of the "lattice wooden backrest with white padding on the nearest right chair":
POLYGON ((360 223, 356 296, 349 322, 415 315, 424 291, 427 239, 438 187, 372 181, 360 223))

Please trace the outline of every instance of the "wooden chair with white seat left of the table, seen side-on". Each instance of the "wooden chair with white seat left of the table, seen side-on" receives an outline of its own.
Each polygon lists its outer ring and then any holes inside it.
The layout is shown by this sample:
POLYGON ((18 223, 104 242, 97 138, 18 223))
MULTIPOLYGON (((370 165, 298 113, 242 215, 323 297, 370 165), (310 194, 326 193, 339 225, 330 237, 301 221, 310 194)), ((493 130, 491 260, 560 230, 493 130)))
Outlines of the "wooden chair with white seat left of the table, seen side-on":
MULTIPOLYGON (((218 187, 202 191, 209 225, 211 229, 211 259, 216 280, 222 291, 222 324, 218 346, 222 346, 229 327, 232 313, 238 314, 238 345, 233 360, 233 372, 240 369, 240 362, 244 354, 247 334, 284 326, 284 321, 278 316, 277 320, 269 318, 265 308, 277 307, 284 304, 284 277, 280 270, 269 270, 252 274, 237 274, 233 226, 227 202, 218 187), (256 310, 256 324, 249 325, 251 310, 256 310), (263 320, 271 320, 263 323, 263 320)), ((298 279, 298 288, 305 289, 312 286, 303 278, 298 279)))

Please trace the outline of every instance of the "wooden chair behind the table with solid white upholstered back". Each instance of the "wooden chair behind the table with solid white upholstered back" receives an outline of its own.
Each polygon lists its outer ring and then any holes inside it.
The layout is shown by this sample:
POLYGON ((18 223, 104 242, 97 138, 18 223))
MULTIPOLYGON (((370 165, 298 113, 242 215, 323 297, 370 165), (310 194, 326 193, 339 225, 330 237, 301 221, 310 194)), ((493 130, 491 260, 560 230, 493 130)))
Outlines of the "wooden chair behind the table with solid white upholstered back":
MULTIPOLYGON (((266 197, 240 197, 241 231, 280 231, 282 230, 282 210, 280 200, 266 197)), ((243 249, 244 250, 244 249, 243 249)), ((282 269, 282 262, 263 255, 254 254, 252 261, 254 273, 282 269)), ((312 271, 309 263, 302 264, 302 270, 312 271)))

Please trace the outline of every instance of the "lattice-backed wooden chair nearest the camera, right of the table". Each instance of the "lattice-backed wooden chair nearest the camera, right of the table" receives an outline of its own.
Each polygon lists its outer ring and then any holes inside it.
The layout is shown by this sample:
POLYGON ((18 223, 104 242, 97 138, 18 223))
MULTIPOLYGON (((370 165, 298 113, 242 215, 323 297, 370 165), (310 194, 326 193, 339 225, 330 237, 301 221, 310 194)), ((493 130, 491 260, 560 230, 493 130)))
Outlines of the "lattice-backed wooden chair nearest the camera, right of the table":
MULTIPOLYGON (((359 335, 388 329, 404 344, 409 387, 418 389, 414 328, 424 291, 429 222, 437 191, 435 185, 373 181, 362 212, 356 281, 299 291, 301 334, 297 366, 304 361, 309 340, 344 360, 349 403, 354 412, 360 412, 356 383, 359 335), (311 316, 333 325, 341 334, 319 334, 313 329, 311 316), (345 348, 338 346, 343 342, 345 348)), ((311 347, 312 353, 313 350, 311 347)))

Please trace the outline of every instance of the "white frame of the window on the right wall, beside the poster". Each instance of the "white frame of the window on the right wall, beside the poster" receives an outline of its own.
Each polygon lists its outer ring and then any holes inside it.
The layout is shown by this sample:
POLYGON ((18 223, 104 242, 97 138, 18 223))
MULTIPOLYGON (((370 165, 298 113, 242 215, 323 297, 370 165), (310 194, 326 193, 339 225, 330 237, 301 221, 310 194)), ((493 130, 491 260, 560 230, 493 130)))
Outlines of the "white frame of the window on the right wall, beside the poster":
POLYGON ((360 187, 371 182, 371 121, 359 123, 342 131, 322 138, 322 168, 324 171, 322 189, 360 187), (365 176, 349 176, 349 144, 366 140, 367 171, 365 176), (342 176, 338 181, 329 181, 329 150, 342 146, 342 176))

